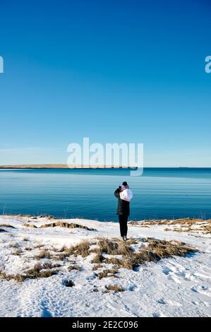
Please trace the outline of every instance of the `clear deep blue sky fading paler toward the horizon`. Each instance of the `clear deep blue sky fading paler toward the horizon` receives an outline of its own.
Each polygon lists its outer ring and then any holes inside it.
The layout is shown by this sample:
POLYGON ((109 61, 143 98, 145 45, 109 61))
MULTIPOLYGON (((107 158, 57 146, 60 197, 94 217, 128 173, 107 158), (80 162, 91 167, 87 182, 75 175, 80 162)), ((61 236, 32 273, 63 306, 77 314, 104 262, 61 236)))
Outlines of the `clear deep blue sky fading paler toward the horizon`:
POLYGON ((211 167, 206 0, 0 2, 0 164, 68 143, 144 143, 145 166, 211 167))

